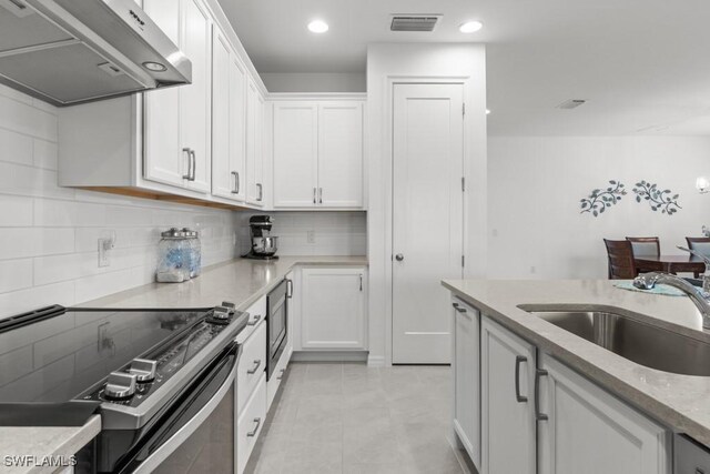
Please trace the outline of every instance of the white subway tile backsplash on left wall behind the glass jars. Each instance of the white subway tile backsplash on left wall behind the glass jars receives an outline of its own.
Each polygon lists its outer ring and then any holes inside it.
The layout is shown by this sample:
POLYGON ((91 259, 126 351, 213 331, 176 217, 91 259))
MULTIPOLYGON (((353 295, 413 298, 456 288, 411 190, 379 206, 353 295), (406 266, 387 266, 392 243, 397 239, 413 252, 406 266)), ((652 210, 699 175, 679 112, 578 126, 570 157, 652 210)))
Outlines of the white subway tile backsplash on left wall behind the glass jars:
POLYGON ((0 87, 0 316, 153 281, 160 231, 201 231, 203 261, 235 254, 231 211, 57 185, 57 109, 0 87), (111 265, 98 239, 116 234, 111 265))

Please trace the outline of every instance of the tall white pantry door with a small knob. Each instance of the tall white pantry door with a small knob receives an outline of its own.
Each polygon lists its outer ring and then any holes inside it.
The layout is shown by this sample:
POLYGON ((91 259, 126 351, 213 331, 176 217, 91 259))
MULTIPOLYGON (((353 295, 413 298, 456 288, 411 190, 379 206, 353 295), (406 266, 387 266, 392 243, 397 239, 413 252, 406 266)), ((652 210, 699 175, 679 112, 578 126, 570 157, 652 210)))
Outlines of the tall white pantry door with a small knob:
POLYGON ((463 276, 463 84, 395 84, 393 335, 395 364, 448 364, 449 295, 463 276))

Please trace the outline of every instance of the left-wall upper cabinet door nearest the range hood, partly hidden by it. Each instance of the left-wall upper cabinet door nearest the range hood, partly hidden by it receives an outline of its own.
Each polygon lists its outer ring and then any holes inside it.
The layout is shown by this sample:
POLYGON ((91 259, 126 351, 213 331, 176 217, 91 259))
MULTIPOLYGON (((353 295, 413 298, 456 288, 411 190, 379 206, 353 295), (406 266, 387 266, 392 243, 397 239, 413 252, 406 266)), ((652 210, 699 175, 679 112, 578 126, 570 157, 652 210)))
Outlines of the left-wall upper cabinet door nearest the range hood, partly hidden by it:
MULTIPOLYGON (((179 1, 144 0, 143 10, 175 44, 181 44, 179 1)), ((187 174, 190 157, 182 150, 180 141, 181 88, 156 89, 143 94, 143 177, 182 188, 185 185, 183 177, 187 174)))

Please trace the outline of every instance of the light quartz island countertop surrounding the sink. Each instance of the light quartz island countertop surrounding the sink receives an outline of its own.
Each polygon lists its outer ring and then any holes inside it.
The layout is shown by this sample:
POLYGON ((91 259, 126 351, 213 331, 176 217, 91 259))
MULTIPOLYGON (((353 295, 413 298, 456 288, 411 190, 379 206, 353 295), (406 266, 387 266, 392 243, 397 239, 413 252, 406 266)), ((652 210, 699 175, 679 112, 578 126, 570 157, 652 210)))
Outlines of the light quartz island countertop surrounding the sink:
POLYGON ((679 375, 639 365, 518 307, 590 310, 591 306, 610 306, 620 314, 710 342, 710 333, 702 330, 702 317, 689 297, 621 290, 606 280, 447 280, 443 284, 483 314, 676 433, 686 433, 710 446, 710 377, 679 375))

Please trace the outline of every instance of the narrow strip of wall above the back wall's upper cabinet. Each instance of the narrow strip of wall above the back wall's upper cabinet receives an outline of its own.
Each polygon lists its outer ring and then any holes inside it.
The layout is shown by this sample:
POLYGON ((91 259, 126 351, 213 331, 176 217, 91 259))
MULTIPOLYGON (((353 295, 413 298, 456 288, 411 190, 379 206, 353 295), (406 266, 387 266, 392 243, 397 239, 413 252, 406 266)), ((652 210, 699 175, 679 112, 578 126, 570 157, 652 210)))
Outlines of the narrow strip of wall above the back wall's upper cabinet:
POLYGON ((268 92, 365 92, 366 78, 358 72, 262 72, 268 92))

